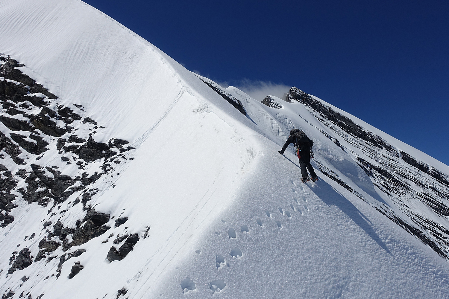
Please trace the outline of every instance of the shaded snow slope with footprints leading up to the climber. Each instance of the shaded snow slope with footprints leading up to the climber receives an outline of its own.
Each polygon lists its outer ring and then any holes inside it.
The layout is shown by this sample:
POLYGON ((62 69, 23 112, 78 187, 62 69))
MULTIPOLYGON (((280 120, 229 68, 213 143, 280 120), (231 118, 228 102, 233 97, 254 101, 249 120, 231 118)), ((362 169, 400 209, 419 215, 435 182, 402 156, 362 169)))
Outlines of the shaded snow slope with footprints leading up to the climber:
POLYGON ((445 262, 419 241, 326 176, 303 184, 285 158, 261 159, 280 174, 271 190, 273 170, 254 172, 145 298, 447 298, 445 262), (195 288, 183 294, 186 277, 195 288))

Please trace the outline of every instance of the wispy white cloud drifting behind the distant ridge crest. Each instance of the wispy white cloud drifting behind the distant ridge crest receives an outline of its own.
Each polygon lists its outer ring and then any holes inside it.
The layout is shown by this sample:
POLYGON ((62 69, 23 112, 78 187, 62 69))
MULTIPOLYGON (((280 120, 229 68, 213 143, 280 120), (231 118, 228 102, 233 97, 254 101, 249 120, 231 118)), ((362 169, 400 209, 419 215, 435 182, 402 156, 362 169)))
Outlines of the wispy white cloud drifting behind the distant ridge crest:
MULTIPOLYGON (((229 82, 217 82, 222 87, 229 87, 229 82)), ((255 100, 264 100, 267 95, 274 95, 278 98, 285 99, 285 94, 291 88, 291 86, 285 84, 273 83, 271 81, 260 81, 243 79, 241 81, 232 82, 233 86, 237 87, 241 91, 244 91, 255 100)))

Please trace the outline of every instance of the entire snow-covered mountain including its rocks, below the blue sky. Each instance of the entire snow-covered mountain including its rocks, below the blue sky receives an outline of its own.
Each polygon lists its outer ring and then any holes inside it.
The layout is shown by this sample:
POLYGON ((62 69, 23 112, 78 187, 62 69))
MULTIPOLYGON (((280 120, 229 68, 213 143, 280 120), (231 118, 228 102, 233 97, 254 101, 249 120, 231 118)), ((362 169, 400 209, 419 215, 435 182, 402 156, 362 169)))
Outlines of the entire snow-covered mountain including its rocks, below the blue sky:
POLYGON ((297 88, 221 88, 81 1, 0 13, 5 298, 448 297, 446 165, 297 88), (277 152, 292 128, 317 183, 277 152))

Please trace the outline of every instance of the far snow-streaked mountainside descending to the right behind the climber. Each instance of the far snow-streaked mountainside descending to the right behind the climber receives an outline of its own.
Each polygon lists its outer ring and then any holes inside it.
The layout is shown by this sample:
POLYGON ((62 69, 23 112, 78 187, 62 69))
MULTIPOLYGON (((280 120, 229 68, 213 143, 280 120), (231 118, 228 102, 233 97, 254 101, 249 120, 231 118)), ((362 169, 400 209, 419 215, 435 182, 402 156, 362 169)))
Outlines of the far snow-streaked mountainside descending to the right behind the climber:
MULTIPOLYGON (((297 88, 290 90, 286 100, 304 104, 332 134, 313 124, 310 126, 332 140, 370 177, 375 188, 375 192, 371 188, 370 193, 375 195, 376 201, 369 202, 374 208, 440 256, 449 259, 449 177, 446 165, 379 130, 376 130, 377 134, 371 132, 357 123, 357 118, 344 116, 326 102, 297 88)), ((348 185, 352 181, 366 190, 366 182, 356 178, 353 171, 335 163, 332 169, 320 165, 319 161, 316 163, 326 176, 366 200, 364 195, 348 185), (339 173, 335 173, 335 169, 339 173)))

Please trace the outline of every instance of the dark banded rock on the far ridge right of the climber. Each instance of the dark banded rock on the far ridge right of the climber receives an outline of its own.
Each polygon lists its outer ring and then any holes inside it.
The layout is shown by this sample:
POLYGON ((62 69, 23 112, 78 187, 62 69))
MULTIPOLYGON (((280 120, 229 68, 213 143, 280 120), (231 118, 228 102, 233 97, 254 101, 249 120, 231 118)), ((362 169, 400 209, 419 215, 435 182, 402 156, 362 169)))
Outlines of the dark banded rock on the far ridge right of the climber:
MULTIPOLYGON (((416 236, 440 256, 449 259, 449 230, 407 205, 407 201, 411 198, 425 204, 439 217, 449 219, 449 179, 447 175, 435 167, 415 159, 408 153, 396 149, 377 134, 365 130, 350 118, 322 104, 321 101, 296 87, 290 89, 286 101, 298 101, 304 104, 323 125, 329 127, 341 136, 341 139, 354 147, 355 151, 343 147, 338 139, 330 137, 329 134, 317 128, 355 160, 372 179, 374 186, 390 196, 406 217, 397 214, 383 203, 376 204, 374 208, 416 236)), ((322 173, 365 200, 363 195, 349 187, 338 178, 336 173, 326 169, 318 160, 314 160, 322 173)))

